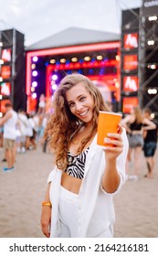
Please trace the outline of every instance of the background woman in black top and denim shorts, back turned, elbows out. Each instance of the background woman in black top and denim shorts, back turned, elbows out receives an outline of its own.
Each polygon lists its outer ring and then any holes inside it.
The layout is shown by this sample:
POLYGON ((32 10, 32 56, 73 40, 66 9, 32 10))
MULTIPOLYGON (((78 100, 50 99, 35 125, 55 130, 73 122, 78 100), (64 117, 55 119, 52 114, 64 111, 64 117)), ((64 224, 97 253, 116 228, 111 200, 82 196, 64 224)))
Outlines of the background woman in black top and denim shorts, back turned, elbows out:
POLYGON ((139 106, 132 108, 131 114, 127 115, 121 121, 122 126, 125 127, 128 133, 129 151, 126 163, 126 179, 137 180, 140 172, 140 155, 142 154, 143 129, 153 129, 153 123, 150 120, 143 119, 142 112, 139 106), (142 125, 146 124, 146 127, 142 129, 142 125), (129 176, 129 163, 132 160, 133 152, 133 175, 129 176))

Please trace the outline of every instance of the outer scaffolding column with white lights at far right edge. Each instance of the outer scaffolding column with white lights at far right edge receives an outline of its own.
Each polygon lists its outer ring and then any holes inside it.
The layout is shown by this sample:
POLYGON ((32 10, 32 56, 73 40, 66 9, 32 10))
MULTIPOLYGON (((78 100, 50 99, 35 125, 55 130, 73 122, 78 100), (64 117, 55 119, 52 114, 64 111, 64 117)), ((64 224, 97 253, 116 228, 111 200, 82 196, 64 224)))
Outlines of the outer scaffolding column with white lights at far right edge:
POLYGON ((158 19, 155 16, 155 20, 149 21, 150 17, 152 14, 145 16, 140 9, 139 98, 141 107, 150 108, 158 118, 158 19))

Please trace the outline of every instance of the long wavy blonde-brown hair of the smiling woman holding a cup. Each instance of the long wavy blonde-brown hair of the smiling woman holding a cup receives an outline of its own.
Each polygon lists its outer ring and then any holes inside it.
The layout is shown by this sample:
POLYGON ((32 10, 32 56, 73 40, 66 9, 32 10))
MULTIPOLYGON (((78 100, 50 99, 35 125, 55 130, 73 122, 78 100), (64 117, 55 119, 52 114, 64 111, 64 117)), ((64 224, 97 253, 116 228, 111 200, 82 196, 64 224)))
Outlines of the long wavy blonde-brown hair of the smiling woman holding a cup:
POLYGON ((49 140, 49 147, 53 153, 54 164, 61 170, 65 170, 68 165, 67 154, 71 138, 79 131, 79 127, 84 125, 84 123, 70 112, 66 99, 66 92, 80 82, 82 82, 90 92, 94 101, 94 108, 91 132, 80 142, 78 149, 79 153, 97 131, 99 112, 110 112, 99 89, 87 77, 80 74, 72 74, 67 75, 61 80, 58 90, 55 92, 53 98, 53 113, 50 115, 44 133, 45 139, 48 138, 49 140))

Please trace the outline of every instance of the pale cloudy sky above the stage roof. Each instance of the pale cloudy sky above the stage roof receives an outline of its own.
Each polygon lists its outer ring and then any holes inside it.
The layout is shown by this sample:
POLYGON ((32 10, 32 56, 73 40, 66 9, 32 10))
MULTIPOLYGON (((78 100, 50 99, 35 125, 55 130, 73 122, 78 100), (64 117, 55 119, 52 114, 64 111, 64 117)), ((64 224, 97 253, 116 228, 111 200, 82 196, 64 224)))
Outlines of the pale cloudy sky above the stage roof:
POLYGON ((121 10, 142 0, 0 0, 0 30, 16 28, 29 46, 68 27, 120 33, 121 10))

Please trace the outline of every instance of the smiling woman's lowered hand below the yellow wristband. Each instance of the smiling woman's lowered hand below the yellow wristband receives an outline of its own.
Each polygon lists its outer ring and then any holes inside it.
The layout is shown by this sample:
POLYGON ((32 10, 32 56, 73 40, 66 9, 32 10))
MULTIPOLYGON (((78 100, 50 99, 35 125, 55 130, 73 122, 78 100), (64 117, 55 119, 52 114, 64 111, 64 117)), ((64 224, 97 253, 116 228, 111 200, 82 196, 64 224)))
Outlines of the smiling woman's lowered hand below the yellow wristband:
POLYGON ((47 238, 50 237, 50 232, 49 232, 50 220, 51 220, 51 207, 42 206, 40 223, 41 223, 42 232, 47 238))

